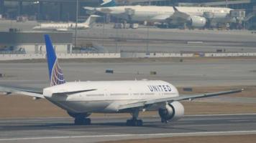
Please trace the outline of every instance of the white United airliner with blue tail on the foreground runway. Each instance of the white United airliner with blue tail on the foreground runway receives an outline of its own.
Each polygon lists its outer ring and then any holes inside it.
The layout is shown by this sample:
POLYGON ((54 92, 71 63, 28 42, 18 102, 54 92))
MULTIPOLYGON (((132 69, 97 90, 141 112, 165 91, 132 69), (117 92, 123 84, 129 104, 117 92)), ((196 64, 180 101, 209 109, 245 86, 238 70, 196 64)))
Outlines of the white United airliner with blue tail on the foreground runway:
POLYGON ((170 83, 160 80, 65 82, 50 36, 45 35, 50 87, 40 91, 17 87, 0 87, 6 94, 25 94, 36 99, 47 99, 65 109, 75 118, 75 124, 91 124, 91 113, 130 113, 129 126, 142 126, 139 112, 157 110, 161 122, 175 121, 183 117, 184 107, 179 101, 214 97, 242 92, 235 89, 226 92, 179 96, 170 83))

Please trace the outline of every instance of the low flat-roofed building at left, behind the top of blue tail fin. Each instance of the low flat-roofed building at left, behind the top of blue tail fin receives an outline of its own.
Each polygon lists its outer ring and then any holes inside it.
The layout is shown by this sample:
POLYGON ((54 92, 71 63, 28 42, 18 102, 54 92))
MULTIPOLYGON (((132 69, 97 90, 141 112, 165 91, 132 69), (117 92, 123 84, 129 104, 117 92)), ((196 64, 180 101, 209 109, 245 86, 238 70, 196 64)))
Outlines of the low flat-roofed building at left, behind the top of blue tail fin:
MULTIPOLYGON (((16 31, 0 32, 0 53, 45 54, 45 32, 16 31)), ((47 32, 58 53, 72 52, 72 33, 47 32)))

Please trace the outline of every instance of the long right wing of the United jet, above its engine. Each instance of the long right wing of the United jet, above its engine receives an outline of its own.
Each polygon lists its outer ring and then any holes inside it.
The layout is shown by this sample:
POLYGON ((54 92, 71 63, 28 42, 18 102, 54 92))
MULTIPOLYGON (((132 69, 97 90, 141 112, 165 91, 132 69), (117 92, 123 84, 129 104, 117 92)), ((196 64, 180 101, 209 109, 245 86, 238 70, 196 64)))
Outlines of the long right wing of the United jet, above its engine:
POLYGON ((119 106, 119 110, 140 108, 140 107, 144 108, 152 104, 161 104, 165 102, 181 101, 181 100, 187 100, 187 99, 192 100, 192 99, 205 98, 205 97, 215 97, 215 96, 225 95, 225 94, 234 94, 242 91, 243 89, 234 89, 234 90, 229 90, 225 92, 213 92, 213 93, 207 93, 207 94, 195 94, 195 95, 188 95, 188 96, 183 95, 180 97, 170 97, 170 98, 164 98, 164 99, 151 99, 151 100, 145 100, 145 101, 134 102, 129 104, 122 104, 119 106))

